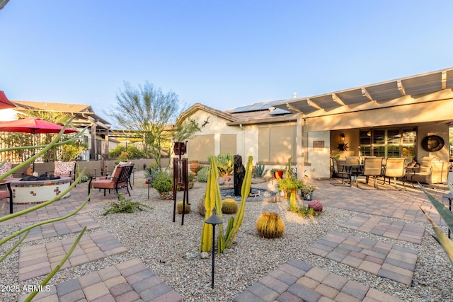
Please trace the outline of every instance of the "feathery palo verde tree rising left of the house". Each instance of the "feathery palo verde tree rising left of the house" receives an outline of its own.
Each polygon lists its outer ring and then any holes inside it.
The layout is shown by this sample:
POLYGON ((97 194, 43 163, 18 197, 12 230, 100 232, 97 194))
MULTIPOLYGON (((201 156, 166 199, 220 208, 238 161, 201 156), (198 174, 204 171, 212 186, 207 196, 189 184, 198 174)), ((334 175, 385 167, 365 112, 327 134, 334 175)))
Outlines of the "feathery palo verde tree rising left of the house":
POLYGON ((200 131, 196 122, 175 125, 183 111, 176 93, 162 92, 148 81, 138 88, 124 83, 125 88, 117 94, 117 105, 107 112, 115 122, 128 130, 138 130, 142 134, 145 152, 149 152, 161 169, 162 153, 171 153, 171 141, 183 141, 200 131), (149 149, 149 150, 148 150, 149 149))

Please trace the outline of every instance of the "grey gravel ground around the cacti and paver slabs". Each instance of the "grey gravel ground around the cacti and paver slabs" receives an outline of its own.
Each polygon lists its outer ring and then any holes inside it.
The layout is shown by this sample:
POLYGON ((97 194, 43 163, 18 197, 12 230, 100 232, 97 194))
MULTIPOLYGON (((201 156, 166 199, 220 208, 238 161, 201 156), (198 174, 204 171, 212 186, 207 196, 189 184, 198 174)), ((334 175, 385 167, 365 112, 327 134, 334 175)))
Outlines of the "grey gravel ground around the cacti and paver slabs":
MULTIPOLYGON (((207 260, 201 260, 200 257, 195 259, 187 257, 188 253, 199 254, 203 219, 197 212, 197 203, 204 196, 205 187, 205 184, 197 182, 190 190, 192 211, 185 215, 183 226, 180 224, 180 215, 176 216, 176 222, 173 223, 173 202, 160 199, 155 190, 151 190, 149 200, 147 190, 143 190, 139 198, 141 202, 154 209, 134 214, 109 214, 108 216, 102 216, 102 210, 92 211, 89 215, 98 221, 101 229, 112 233, 129 251, 79 267, 64 269, 57 273, 50 284, 55 285, 125 260, 139 258, 183 296, 183 301, 232 301, 248 286, 270 274, 290 258, 296 258, 384 291, 403 301, 452 301, 453 299, 452 265, 449 264, 440 245, 430 236, 432 233, 430 227, 425 232, 422 245, 417 245, 339 227, 357 212, 324 207, 321 216, 304 219, 287 211, 286 202, 267 201, 246 203, 246 214, 236 237, 236 243, 233 245, 234 251, 225 255, 217 254, 215 257, 215 284, 214 289, 211 289, 211 257, 207 260), (258 237, 255 221, 263 211, 275 211, 282 216, 285 221, 285 233, 282 238, 269 240, 258 237), (407 287, 396 281, 367 274, 306 252, 309 245, 333 230, 419 250, 413 285, 407 287)), ((270 182, 253 185, 253 187, 273 189, 270 182)), ((139 185, 136 184, 134 190, 139 190, 139 185)), ((182 197, 182 192, 179 196, 182 197)), ((224 215, 223 219, 227 221, 228 215, 224 215)), ((2 226, 0 235, 3 238, 17 231, 18 228, 18 225, 2 226)), ((99 228, 90 232, 98 230, 99 228)), ((216 231, 218 232, 218 227, 216 231)), ((68 237, 76 237, 76 234, 37 240, 33 243, 45 243, 68 237)), ((11 244, 6 243, 0 247, 1 255, 4 255, 11 244)), ((18 251, 4 260, 2 267, 4 269, 0 271, 1 284, 18 284, 18 251)), ((42 279, 37 277, 18 285, 39 284, 42 279)), ((0 299, 16 301, 17 293, 1 293, 0 299)))

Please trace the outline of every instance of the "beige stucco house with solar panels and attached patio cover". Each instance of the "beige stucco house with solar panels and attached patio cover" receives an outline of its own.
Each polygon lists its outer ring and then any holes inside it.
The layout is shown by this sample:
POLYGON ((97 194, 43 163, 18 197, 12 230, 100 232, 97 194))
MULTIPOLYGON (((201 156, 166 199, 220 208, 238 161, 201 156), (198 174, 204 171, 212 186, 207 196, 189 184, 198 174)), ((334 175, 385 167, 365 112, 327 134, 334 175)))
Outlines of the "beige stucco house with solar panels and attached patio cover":
MULTIPOLYGON (((222 134, 234 134, 235 151, 244 161, 251 155, 254 163, 265 164, 268 169, 282 168, 287 163, 287 154, 291 154, 298 172, 303 170, 304 175, 312 178, 328 178, 330 156, 358 156, 363 155, 362 151, 385 156, 415 154, 418 160, 423 156, 435 156, 435 161, 442 163, 446 171, 452 108, 453 69, 445 69, 308 98, 256 103, 226 112, 199 104, 189 110, 186 117, 202 124, 210 116, 210 123, 197 135, 213 137, 214 144, 210 148, 214 155, 220 152, 222 134), (195 112, 200 108, 202 110, 195 112), (277 129, 285 124, 292 125, 295 131, 277 129), (364 130, 372 133, 371 138, 374 134, 385 133, 384 143, 382 139, 361 143, 360 134, 362 141, 366 141, 364 130), (398 130, 409 139, 409 142, 405 140, 406 145, 401 141, 394 143, 398 130), (415 142, 411 140, 413 131, 417 134, 415 142), (268 140, 265 139, 267 133, 268 140), (340 134, 345 134, 345 143, 349 146, 343 153, 337 149, 340 134), (283 138, 280 141, 279 135, 283 138), (440 151, 425 151, 421 141, 429 135, 442 137, 445 146, 440 151), (279 148, 287 149, 286 154, 282 153, 285 156, 273 149, 273 144, 279 142, 283 143, 279 148), (263 152, 262 147, 269 150, 263 152)), ((188 157, 195 157, 190 149, 188 157)))

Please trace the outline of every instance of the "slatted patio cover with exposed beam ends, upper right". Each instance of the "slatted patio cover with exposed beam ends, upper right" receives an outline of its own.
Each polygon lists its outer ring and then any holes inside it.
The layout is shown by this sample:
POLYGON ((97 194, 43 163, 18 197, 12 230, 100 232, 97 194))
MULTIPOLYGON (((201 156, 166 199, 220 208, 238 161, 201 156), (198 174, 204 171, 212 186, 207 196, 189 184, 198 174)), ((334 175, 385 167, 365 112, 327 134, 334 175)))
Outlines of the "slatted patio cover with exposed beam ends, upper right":
POLYGON ((453 68, 333 93, 281 100, 273 104, 273 107, 309 115, 318 110, 328 112, 342 106, 360 105, 369 102, 379 103, 406 95, 423 95, 445 89, 453 89, 453 68))

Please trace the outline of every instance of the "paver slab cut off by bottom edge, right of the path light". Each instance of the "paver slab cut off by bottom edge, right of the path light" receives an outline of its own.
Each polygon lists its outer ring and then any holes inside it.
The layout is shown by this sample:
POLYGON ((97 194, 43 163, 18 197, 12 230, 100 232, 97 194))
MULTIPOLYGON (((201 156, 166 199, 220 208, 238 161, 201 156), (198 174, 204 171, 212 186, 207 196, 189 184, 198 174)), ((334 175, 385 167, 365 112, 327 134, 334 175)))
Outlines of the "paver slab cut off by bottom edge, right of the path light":
MULTIPOLYGON (((283 282, 287 290, 279 292, 272 286, 268 277, 248 287, 234 298, 235 302, 249 301, 377 301, 397 302, 398 298, 371 289, 356 281, 326 272, 309 263, 291 259, 270 275, 285 276, 288 271, 297 271, 302 277, 294 278, 291 283, 283 282)), ((278 278, 276 278, 278 280, 278 278)), ((285 288, 285 286, 283 286, 285 288)))

